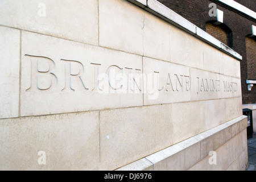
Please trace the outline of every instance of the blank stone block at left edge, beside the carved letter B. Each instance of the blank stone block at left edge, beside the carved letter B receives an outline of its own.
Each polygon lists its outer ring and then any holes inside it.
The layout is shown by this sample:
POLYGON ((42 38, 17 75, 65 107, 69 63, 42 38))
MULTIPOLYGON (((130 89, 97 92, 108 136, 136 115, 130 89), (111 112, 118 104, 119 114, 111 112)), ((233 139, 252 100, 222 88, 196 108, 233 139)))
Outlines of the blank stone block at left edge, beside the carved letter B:
POLYGON ((19 30, 0 26, 0 55, 0 65, 2 68, 0 72, 0 118, 18 117, 20 69, 19 30))

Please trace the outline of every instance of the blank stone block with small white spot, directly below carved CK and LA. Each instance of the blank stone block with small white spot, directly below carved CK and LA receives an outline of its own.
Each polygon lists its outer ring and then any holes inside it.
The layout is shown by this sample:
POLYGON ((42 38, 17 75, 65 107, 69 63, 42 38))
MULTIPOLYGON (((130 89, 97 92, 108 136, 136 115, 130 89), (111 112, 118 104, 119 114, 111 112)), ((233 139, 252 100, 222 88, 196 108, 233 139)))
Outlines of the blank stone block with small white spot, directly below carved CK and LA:
POLYGON ((101 170, 112 170, 172 145, 171 105, 100 111, 101 170))

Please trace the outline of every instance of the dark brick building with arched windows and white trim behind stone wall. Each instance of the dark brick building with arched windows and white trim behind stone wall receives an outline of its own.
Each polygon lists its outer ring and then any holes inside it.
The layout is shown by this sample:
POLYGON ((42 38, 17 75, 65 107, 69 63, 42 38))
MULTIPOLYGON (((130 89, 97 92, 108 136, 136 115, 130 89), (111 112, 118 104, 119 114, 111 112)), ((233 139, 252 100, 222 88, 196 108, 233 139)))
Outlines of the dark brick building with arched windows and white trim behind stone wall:
MULTIPOLYGON (((256 121, 256 1, 158 0, 242 56, 243 108, 254 110, 256 121), (214 6, 220 14, 214 14, 214 6), (254 84, 254 86, 253 86, 254 84)), ((256 126, 254 126, 256 131, 256 126)))

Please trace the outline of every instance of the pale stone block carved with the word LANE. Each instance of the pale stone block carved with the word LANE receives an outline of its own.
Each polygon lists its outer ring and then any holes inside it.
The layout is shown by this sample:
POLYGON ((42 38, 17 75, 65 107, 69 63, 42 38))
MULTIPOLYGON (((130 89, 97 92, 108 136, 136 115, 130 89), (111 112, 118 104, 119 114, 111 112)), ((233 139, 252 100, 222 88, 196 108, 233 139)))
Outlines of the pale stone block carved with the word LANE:
POLYGON ((189 67, 143 57, 144 105, 190 101, 189 67))

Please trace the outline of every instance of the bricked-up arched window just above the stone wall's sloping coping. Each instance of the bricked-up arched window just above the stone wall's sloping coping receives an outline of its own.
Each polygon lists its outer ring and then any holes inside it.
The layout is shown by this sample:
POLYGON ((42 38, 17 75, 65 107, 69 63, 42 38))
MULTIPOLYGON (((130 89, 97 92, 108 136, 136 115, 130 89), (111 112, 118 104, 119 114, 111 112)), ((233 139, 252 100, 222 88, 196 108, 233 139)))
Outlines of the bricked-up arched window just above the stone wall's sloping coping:
POLYGON ((226 46, 233 48, 233 34, 228 26, 223 23, 216 25, 214 21, 209 21, 205 24, 205 27, 208 34, 220 40, 226 46))

